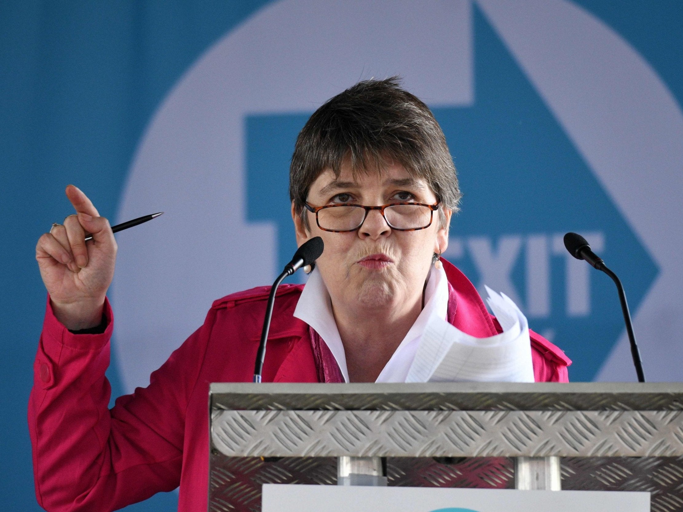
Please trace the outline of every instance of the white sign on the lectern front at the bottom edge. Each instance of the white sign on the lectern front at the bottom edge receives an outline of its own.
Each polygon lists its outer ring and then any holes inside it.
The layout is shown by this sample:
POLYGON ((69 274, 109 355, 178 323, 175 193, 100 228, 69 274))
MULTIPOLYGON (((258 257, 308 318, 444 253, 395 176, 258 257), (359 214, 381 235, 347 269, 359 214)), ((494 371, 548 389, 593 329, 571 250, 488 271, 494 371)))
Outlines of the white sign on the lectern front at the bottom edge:
POLYGON ((650 512, 650 493, 264 484, 262 511, 650 512))

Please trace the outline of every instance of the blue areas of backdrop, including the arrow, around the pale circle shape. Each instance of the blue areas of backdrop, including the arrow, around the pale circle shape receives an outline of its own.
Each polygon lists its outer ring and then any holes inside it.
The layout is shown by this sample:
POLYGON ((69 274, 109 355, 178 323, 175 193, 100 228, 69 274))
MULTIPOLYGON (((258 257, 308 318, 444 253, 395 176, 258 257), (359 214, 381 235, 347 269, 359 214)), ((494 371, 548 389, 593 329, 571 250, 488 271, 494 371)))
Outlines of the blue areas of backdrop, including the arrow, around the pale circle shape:
MULTIPOLYGON (((0 6, 3 508, 40 509, 33 496, 26 421, 45 300, 34 247, 53 221, 70 213, 64 186, 77 184, 101 214, 117 218, 136 147, 156 109, 202 53, 266 3, 26 0, 0 6)), ((575 3, 626 39, 680 104, 680 1, 575 3)), ((592 380, 622 330, 619 307, 604 280, 591 277, 587 303, 581 302, 580 291, 570 294, 566 258, 554 249, 557 236, 569 229, 602 236, 604 254, 618 262, 615 270, 624 275, 634 310, 656 279, 658 265, 478 8, 473 34, 473 104, 434 109, 465 194, 449 258, 478 284, 492 272, 484 264, 487 257, 508 255, 505 274, 526 304, 531 326, 577 361, 573 380, 592 380), (577 216, 577 210, 600 221, 577 216), (539 281, 529 277, 529 258, 518 257, 532 249, 548 255, 547 297, 533 296, 539 281), (588 314, 598 304, 602 314, 588 314), (604 343, 591 340, 596 331, 604 343)), ((309 113, 245 118, 245 213, 249 221, 278 228, 280 263, 294 244, 285 172, 293 139, 309 113), (273 209, 253 208, 255 197, 267 199, 273 209)), ((655 362, 650 365, 656 369, 655 362)), ((113 394, 123 393, 115 358, 108 375, 113 394)), ((176 494, 169 493, 130 509, 170 510, 175 503, 176 494)))

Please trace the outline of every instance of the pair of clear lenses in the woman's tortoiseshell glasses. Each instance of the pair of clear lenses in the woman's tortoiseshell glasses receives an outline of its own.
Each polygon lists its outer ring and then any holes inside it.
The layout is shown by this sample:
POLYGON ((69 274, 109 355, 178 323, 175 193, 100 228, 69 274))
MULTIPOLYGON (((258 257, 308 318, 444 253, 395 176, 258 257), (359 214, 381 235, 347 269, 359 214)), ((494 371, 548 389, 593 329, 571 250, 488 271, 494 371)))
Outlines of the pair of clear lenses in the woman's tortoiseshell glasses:
MULTIPOLYGON (((421 229, 430 225, 432 210, 417 204, 393 205, 385 208, 387 224, 395 229, 421 229)), ((353 231, 365 220, 365 208, 333 206, 318 210, 318 225, 331 231, 353 231)))

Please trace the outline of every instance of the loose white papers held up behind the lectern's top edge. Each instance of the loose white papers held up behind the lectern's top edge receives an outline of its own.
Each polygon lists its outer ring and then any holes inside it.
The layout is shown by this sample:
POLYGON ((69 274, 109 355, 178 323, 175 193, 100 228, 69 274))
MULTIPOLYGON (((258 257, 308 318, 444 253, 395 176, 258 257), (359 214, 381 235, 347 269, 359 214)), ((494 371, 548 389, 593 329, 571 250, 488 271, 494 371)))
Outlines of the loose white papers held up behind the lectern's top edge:
POLYGON ((486 291, 503 332, 475 338, 432 316, 406 382, 533 382, 527 318, 505 294, 486 291))

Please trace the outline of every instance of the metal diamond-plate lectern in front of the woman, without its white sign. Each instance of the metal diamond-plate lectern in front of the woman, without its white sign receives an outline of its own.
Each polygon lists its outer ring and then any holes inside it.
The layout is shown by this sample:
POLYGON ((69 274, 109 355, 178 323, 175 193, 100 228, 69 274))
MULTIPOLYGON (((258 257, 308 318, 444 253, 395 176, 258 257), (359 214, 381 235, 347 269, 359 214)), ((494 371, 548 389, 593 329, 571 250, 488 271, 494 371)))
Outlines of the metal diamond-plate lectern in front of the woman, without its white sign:
POLYGON ((683 384, 211 384, 209 510, 264 483, 647 491, 683 511, 683 384))

